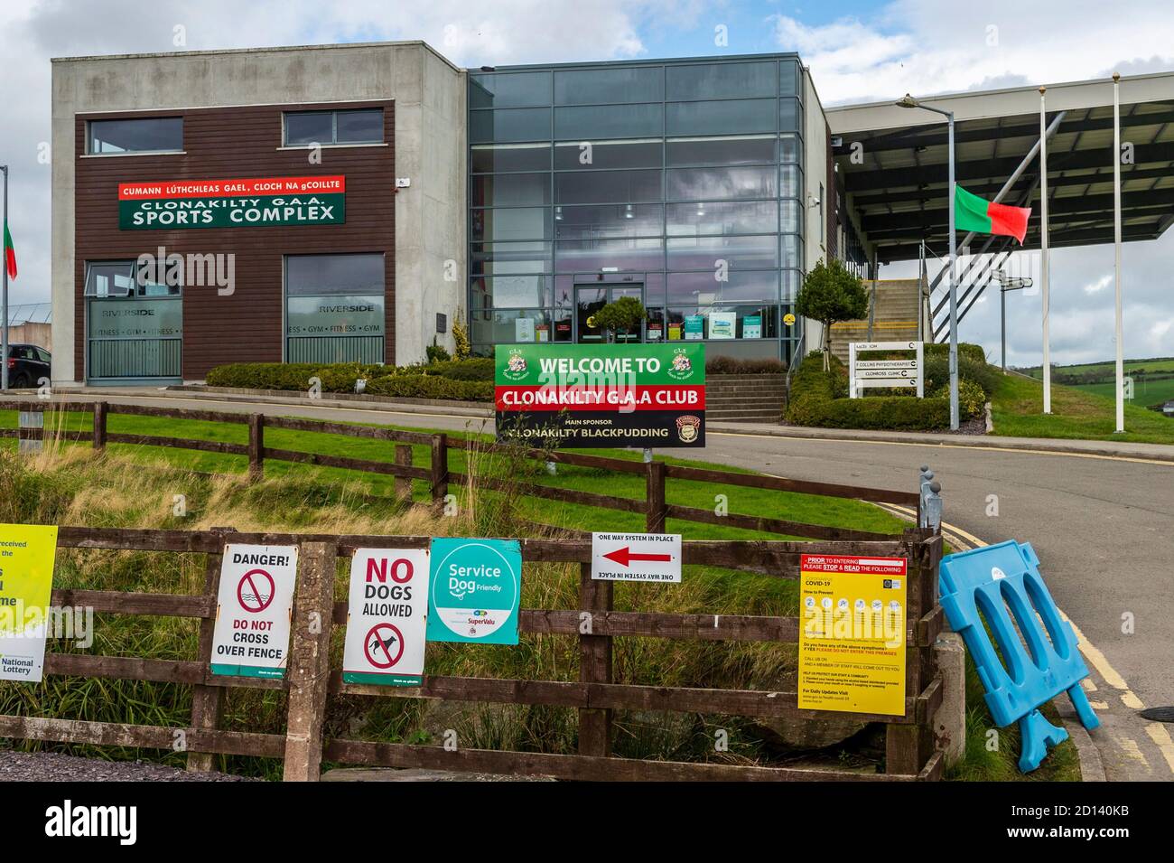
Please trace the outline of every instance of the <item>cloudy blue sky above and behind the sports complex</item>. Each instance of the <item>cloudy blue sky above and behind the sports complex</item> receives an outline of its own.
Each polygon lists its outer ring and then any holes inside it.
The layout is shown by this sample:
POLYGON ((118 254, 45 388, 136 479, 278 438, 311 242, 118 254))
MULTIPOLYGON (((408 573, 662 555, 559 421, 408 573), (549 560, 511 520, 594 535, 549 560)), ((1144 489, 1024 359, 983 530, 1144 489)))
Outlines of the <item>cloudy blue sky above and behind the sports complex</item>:
MULTIPOLYGON (((1174 4, 2 0, 0 163, 12 169, 20 264, 12 302, 49 297, 49 58, 396 39, 423 39, 461 66, 797 50, 830 106, 1174 69, 1174 4)), ((1174 356, 1172 235, 1124 248, 1127 357, 1174 356)), ((1051 285, 1052 360, 1111 358, 1112 245, 1053 251, 1051 285)), ((992 358, 998 299, 985 295, 960 328, 992 358)), ((1038 290, 1008 296, 1012 365, 1040 362, 1040 304, 1038 290)))

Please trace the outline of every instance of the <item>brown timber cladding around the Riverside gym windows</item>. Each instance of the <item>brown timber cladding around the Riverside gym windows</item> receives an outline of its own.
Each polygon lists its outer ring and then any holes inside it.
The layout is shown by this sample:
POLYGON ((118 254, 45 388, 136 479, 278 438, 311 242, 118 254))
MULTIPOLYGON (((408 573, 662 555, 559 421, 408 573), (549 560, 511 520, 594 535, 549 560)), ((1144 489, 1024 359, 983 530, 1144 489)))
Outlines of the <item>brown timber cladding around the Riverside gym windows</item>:
MULTIPOLYGON (((74 129, 75 368, 86 369, 86 262, 141 254, 235 255, 236 290, 183 291, 183 377, 201 379, 223 363, 279 363, 283 342, 283 256, 383 252, 385 360, 396 345, 394 102, 263 104, 238 108, 77 114, 74 129), (311 164, 305 148, 282 149, 282 114, 296 110, 384 109, 386 146, 324 147, 311 164), (86 122, 128 117, 183 117, 182 154, 85 156, 86 122), (344 175, 346 223, 266 228, 120 230, 119 183, 168 180, 344 175)), ((62 349, 65 346, 62 345, 62 349)))

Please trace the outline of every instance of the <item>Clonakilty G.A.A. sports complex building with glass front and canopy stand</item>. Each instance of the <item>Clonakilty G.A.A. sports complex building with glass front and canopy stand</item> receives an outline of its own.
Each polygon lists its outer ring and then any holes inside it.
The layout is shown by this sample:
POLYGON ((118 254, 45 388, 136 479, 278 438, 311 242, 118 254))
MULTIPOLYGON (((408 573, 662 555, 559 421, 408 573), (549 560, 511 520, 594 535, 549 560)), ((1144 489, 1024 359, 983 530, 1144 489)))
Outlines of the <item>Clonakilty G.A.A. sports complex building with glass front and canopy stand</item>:
MULTIPOLYGON (((1154 238, 1174 220, 1174 75, 1122 79, 1121 99, 1125 240, 1154 238)), ((1112 241, 1112 100, 1111 81, 1047 89, 1053 247, 1112 241)), ((1035 88, 925 101, 958 120, 960 184, 1035 205, 1035 88)), ((458 321, 477 353, 601 342, 594 311, 623 296, 649 312, 629 339, 790 360, 822 335, 794 315, 803 274, 832 257, 865 278, 925 257, 913 325, 943 332, 943 119, 825 108, 796 54, 69 58, 53 61, 52 123, 58 383, 414 363, 452 350, 458 321)), ((989 265, 962 268, 963 317, 1014 242, 992 241, 989 265)))

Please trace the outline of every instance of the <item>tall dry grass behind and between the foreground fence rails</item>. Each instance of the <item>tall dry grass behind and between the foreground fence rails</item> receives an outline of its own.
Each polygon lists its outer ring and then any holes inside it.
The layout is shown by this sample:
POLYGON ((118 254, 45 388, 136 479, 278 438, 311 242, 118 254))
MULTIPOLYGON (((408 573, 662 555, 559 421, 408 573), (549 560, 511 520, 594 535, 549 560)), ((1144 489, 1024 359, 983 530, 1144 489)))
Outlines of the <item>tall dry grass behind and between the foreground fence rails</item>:
MULTIPOLYGON (((48 414, 47 414, 48 416, 48 414)), ((49 436, 53 437, 53 436, 49 436)), ((372 498, 360 484, 305 472, 249 484, 243 477, 210 477, 167 463, 94 454, 47 441, 35 457, 0 453, 0 521, 147 528, 234 527, 239 531, 367 533, 400 535, 526 535, 544 533, 521 517, 515 491, 494 491, 486 480, 518 478, 541 470, 520 454, 466 453, 470 483, 453 487, 456 507, 430 507, 372 498), (183 506, 177 507, 182 501, 183 506)), ((529 501, 532 505, 532 501, 529 501)), ((551 501, 554 512, 559 504, 551 501)), ((583 525, 583 527, 588 527, 583 525)), ((547 535, 558 535, 547 533, 547 535)), ((200 593, 204 555, 59 550, 56 587, 200 593)), ((339 567, 336 596, 346 595, 348 571, 339 567)), ((522 607, 576 608, 579 566, 526 564, 522 607)), ((794 585, 777 578, 686 567, 680 585, 615 585, 619 611, 706 614, 796 613, 794 585)), ((99 615, 90 652, 156 659, 196 660, 195 620, 99 615)), ((340 662, 343 632, 332 645, 340 662)), ((52 643, 50 650, 77 649, 52 643)), ((795 646, 622 638, 614 642, 615 680, 664 687, 792 688, 795 646)), ((430 675, 574 681, 579 675, 575 636, 524 633, 517 647, 430 643, 430 675)), ((190 687, 141 681, 53 677, 40 685, 0 685, 0 712, 185 727, 190 687)), ((225 690, 223 727, 282 733, 285 696, 274 690, 225 690)), ((737 717, 616 712, 615 750, 630 757, 765 762, 775 757, 753 722, 737 717), (716 731, 729 739, 717 751, 716 731)), ((447 729, 461 747, 572 753, 578 746, 576 712, 546 706, 439 702, 400 697, 333 697, 326 734, 389 742, 439 742, 447 729)), ((21 742, 112 759, 149 757, 182 764, 174 753, 96 750, 90 747, 21 742)), ((272 761, 222 760, 225 769, 275 776, 272 761)))

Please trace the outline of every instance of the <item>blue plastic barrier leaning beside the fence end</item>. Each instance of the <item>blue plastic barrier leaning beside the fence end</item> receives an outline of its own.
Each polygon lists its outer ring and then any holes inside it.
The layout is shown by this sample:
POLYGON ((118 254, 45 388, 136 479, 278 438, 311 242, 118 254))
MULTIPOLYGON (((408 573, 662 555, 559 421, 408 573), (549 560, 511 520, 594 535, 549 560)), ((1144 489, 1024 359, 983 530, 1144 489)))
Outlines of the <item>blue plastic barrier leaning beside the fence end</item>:
POLYGON ((974 660, 994 723, 1004 728, 1019 720, 1023 773, 1039 767, 1048 746, 1068 739, 1065 729, 1044 719, 1040 704, 1067 692, 1085 728, 1100 724, 1080 687, 1088 668, 1077 635, 1060 618, 1030 542, 1008 540, 947 554, 939 584, 942 608, 974 660))

